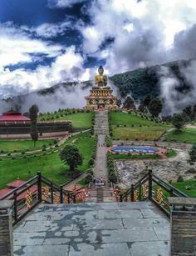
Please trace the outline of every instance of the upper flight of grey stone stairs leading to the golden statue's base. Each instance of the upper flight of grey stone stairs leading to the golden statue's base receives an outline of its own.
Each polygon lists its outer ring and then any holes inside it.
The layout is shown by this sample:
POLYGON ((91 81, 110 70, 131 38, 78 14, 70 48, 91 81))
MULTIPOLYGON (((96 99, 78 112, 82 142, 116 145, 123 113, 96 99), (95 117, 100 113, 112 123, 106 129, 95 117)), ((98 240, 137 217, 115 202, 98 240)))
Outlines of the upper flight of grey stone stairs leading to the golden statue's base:
POLYGON ((95 125, 94 125, 94 134, 95 135, 109 135, 109 126, 108 126, 108 111, 96 111, 95 115, 95 125))

